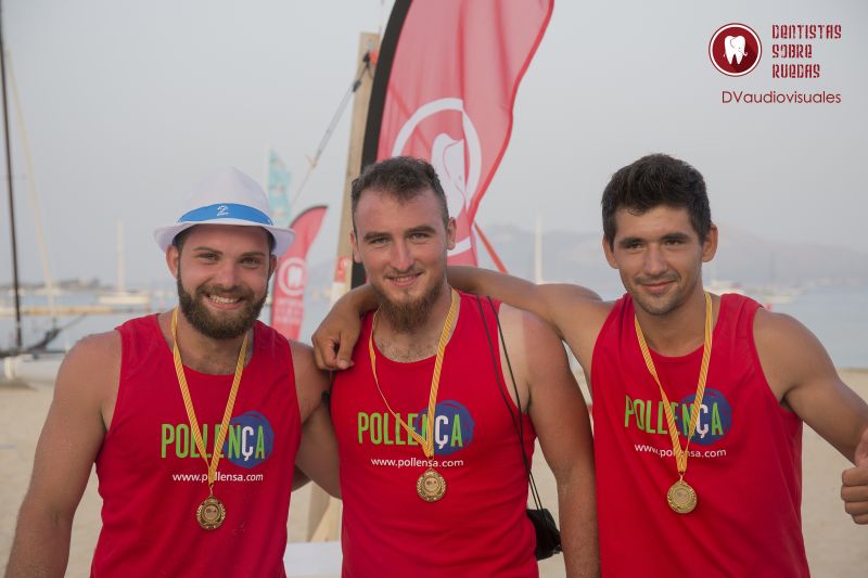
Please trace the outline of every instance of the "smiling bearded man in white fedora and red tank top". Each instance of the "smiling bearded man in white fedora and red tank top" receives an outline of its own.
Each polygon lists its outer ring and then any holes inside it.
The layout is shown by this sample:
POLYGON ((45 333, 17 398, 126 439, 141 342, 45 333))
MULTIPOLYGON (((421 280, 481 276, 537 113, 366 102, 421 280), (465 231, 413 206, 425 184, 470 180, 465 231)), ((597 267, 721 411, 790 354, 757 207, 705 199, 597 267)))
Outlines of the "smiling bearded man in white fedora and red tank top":
POLYGON ((179 306, 79 342, 36 451, 8 576, 61 576, 93 463, 92 576, 283 576, 294 464, 337 493, 328 387, 309 347, 256 321, 277 256, 263 190, 203 181, 154 232, 179 306))

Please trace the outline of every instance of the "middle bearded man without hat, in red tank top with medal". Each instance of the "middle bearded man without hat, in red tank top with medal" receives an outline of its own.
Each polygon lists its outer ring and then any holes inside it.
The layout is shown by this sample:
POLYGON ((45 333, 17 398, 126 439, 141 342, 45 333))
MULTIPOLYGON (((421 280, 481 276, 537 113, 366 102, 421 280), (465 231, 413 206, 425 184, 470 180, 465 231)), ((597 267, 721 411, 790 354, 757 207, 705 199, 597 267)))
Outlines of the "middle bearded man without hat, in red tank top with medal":
POLYGON ((352 194, 353 254, 378 309, 332 388, 344 576, 537 576, 525 513, 537 436, 567 575, 595 575, 589 421, 558 337, 449 286, 456 226, 427 163, 371 165, 352 194))

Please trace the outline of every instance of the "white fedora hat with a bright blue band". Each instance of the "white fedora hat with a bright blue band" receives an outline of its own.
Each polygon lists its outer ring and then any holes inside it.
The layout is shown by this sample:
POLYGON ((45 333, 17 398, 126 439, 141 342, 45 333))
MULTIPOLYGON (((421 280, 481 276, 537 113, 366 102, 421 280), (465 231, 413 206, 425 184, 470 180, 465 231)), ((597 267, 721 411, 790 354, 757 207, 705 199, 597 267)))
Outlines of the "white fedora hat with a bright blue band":
POLYGON ((275 239, 272 253, 278 257, 295 239, 292 229, 275 227, 265 191, 234 167, 220 169, 200 182, 184 200, 178 222, 154 230, 156 244, 165 252, 178 233, 196 224, 261 227, 275 239))

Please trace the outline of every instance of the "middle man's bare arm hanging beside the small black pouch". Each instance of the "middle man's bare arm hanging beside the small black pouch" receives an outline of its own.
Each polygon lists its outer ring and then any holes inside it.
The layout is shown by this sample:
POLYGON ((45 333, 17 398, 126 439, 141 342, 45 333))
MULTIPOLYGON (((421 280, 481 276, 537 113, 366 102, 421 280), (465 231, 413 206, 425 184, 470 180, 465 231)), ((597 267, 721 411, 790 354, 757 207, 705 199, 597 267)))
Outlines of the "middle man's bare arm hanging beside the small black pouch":
MULTIPOLYGON (((554 474, 566 575, 597 576, 599 545, 593 474, 593 445, 585 399, 566 360, 563 345, 549 325, 527 311, 501 306, 507 352, 520 396, 554 474)), ((502 351, 501 351, 502 354, 502 351)), ((509 369, 503 375, 511 384, 509 369)))

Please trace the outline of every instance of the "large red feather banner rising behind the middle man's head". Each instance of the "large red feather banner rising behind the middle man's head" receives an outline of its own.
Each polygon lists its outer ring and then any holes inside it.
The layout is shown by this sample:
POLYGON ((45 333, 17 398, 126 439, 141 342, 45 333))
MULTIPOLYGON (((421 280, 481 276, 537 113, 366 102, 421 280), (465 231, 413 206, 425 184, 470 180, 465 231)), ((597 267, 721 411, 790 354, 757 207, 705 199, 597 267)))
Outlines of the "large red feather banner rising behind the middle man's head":
POLYGON ((376 139, 375 159, 410 155, 436 168, 458 223, 450 264, 476 265, 473 219, 507 149, 515 93, 552 3, 399 0, 393 9, 366 153, 376 139))

